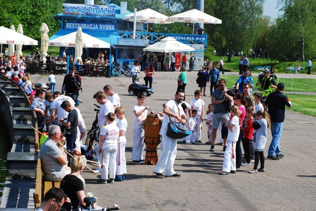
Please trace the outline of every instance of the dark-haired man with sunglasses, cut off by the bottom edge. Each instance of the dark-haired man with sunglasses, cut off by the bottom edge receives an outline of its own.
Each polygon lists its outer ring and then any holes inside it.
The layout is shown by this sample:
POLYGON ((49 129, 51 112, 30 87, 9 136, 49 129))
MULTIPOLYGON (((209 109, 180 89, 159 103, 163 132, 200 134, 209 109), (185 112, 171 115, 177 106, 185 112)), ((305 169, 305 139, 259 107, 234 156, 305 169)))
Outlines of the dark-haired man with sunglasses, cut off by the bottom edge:
POLYGON ((67 197, 65 192, 57 187, 52 187, 44 196, 43 202, 40 207, 36 208, 35 211, 58 211, 64 205, 69 203, 70 199, 67 197))

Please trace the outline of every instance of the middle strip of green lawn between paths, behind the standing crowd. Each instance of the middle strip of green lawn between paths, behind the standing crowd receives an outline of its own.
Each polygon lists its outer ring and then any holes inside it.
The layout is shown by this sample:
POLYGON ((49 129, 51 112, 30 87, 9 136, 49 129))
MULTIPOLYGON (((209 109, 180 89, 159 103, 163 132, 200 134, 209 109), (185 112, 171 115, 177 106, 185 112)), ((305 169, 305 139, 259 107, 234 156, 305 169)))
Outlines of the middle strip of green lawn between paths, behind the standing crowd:
MULTIPOLYGON (((221 75, 221 78, 224 78, 227 83, 227 87, 230 88, 235 85, 239 75, 221 75)), ((257 77, 252 77, 253 83, 257 83, 257 77)), ((291 88, 291 80, 280 78, 279 82, 284 83, 285 91, 292 92, 316 92, 316 79, 309 78, 292 78, 292 88, 291 88)), ((277 81, 276 81, 277 83, 277 81)))

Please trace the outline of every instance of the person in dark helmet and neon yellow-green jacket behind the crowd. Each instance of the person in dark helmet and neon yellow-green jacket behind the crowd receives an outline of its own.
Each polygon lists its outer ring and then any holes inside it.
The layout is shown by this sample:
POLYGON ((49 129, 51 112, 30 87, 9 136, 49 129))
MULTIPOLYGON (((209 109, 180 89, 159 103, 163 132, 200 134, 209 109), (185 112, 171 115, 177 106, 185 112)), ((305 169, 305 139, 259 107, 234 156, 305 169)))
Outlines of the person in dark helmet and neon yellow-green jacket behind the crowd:
POLYGON ((267 97, 273 89, 276 89, 276 80, 270 76, 270 70, 263 70, 263 76, 258 78, 256 86, 261 89, 263 97, 267 97))

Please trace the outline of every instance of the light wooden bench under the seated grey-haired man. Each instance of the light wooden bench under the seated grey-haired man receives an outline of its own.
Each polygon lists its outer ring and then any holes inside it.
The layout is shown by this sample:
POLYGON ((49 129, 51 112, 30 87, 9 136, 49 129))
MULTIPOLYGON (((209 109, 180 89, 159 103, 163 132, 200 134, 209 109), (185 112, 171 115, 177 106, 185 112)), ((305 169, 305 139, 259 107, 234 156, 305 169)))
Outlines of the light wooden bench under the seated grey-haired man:
POLYGON ((60 182, 51 182, 51 181, 44 181, 44 190, 42 187, 42 170, 41 170, 41 163, 40 158, 38 158, 38 165, 36 168, 36 183, 35 183, 35 193, 34 193, 34 202, 35 207, 39 207, 41 204, 41 199, 44 198, 45 193, 52 187, 60 187, 60 182), (43 191, 42 191, 43 190, 43 191))

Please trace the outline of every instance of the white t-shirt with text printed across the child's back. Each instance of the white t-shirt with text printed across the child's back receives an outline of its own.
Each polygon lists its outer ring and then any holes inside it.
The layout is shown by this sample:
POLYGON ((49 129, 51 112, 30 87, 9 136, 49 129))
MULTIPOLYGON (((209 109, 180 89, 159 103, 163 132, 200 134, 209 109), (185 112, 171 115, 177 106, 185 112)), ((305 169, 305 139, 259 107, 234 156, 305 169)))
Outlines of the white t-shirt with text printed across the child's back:
POLYGON ((113 124, 113 122, 109 125, 104 126, 100 131, 100 134, 105 136, 105 140, 102 144, 102 149, 118 145, 118 133, 118 126, 113 124))

